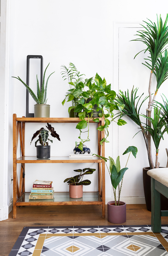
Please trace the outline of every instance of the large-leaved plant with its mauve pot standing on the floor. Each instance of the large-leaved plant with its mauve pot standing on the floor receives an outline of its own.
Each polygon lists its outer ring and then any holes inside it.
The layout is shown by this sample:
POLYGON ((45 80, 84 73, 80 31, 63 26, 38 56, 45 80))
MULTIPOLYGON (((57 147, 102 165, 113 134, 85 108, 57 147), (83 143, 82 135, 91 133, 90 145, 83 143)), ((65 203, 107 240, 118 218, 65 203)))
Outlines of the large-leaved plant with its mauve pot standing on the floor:
MULTIPOLYGON (((137 154, 137 148, 134 146, 129 146, 125 152, 123 153, 123 155, 127 154, 130 152, 132 152, 133 156, 136 158, 136 154, 137 154)), ((130 157, 130 154, 128 156, 128 159, 130 157)), ((96 154, 95 154, 96 155, 96 154)), ((106 157, 102 157, 99 155, 96 155, 100 158, 102 158, 105 161, 105 164, 107 162, 107 160, 109 160, 110 164, 109 164, 109 168, 107 166, 109 175, 110 175, 110 179, 111 179, 111 184, 113 187, 113 193, 114 193, 114 201, 110 201, 107 203, 107 214, 108 214, 108 221, 111 223, 124 223, 126 221, 126 203, 120 201, 120 195, 121 195, 121 188, 122 188, 122 183, 123 183, 123 176, 125 171, 128 169, 127 163, 128 163, 128 159, 125 165, 125 168, 120 168, 120 157, 118 156, 116 159, 116 163, 114 162, 114 160, 109 156, 109 159, 106 157), (120 184, 121 182, 121 184, 120 184), (116 198, 116 189, 118 187, 118 200, 116 198)))

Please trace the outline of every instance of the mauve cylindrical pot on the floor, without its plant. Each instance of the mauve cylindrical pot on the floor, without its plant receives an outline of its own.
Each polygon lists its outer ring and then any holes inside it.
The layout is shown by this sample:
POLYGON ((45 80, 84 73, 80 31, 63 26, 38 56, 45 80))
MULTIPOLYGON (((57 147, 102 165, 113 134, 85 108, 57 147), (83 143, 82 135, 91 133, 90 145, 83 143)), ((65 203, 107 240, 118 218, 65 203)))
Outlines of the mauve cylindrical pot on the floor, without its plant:
POLYGON ((120 204, 122 205, 116 206, 111 204, 115 204, 115 201, 110 201, 107 203, 108 221, 117 224, 124 223, 126 221, 126 203, 120 201, 120 204))

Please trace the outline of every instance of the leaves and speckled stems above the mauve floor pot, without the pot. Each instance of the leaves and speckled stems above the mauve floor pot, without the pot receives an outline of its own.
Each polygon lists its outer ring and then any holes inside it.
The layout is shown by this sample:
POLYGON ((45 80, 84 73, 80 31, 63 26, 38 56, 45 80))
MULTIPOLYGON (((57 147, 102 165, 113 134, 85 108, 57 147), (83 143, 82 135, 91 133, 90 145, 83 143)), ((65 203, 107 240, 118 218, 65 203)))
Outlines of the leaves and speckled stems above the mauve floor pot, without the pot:
MULTIPOLYGON (((130 152, 132 152, 133 156, 136 158, 136 154, 137 154, 137 148, 134 147, 134 146, 129 146, 125 152, 123 153, 123 155, 127 154, 130 152)), ((128 159, 130 157, 130 154, 128 156, 128 159)), ((95 154, 96 155, 96 154, 95 154)), ((122 188, 122 183, 123 183, 123 176, 124 176, 124 173, 125 171, 128 169, 126 166, 127 166, 127 163, 128 163, 128 159, 127 159, 127 162, 126 162, 126 165, 125 165, 125 168, 120 168, 120 157, 118 156, 117 159, 116 159, 116 163, 114 162, 114 160, 112 159, 112 157, 109 156, 109 158, 106 158, 106 157, 102 157, 102 156, 99 156, 99 155, 96 155, 100 158, 102 158, 104 161, 105 161, 105 164, 107 162, 107 160, 109 160, 110 164, 109 164, 109 167, 107 166, 107 169, 108 169, 108 172, 109 172, 109 175, 110 175, 110 179, 111 179, 111 184, 112 184, 112 187, 113 187, 113 193, 114 193, 114 200, 115 200, 115 205, 120 205, 120 195, 121 195, 121 188, 122 188), (121 182, 121 184, 120 184, 121 182), (117 189, 117 186, 118 186, 118 204, 117 204, 117 198, 116 198, 116 189, 117 189)))

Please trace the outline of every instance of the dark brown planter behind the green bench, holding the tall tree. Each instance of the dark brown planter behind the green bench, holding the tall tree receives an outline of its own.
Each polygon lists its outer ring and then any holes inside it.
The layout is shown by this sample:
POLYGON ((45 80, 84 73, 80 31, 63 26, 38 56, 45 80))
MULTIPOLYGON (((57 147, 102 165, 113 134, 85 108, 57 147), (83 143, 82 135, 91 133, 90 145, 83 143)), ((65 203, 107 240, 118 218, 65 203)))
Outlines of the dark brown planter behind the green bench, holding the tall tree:
MULTIPOLYGON (((163 167, 159 167, 163 168, 163 167)), ((146 201, 146 208, 148 211, 151 211, 151 177, 147 174, 147 171, 150 170, 150 167, 143 168, 143 183, 144 183, 144 194, 146 201)), ((161 195, 161 210, 168 210, 168 198, 161 195)))

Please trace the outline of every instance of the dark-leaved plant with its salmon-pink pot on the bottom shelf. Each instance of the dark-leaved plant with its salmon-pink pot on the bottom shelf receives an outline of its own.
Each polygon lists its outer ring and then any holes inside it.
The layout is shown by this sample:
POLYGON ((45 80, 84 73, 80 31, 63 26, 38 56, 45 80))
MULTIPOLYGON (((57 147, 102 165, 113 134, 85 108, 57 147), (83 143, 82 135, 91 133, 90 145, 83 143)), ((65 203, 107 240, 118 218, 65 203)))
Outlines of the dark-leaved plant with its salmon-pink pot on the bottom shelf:
POLYGON ((88 179, 82 180, 84 175, 92 174, 96 169, 84 168, 74 170, 80 174, 70 177, 64 180, 69 184, 69 197, 70 198, 81 198, 83 196, 83 185, 90 185, 91 181, 88 179))

